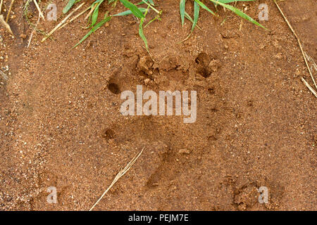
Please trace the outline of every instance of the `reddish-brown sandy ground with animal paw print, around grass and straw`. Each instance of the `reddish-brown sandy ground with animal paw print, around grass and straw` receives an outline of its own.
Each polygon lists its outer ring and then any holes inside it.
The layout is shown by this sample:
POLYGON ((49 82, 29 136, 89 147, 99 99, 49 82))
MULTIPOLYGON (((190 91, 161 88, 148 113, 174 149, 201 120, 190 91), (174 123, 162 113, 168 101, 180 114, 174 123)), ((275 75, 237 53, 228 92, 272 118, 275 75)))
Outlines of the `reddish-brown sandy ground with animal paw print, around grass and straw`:
MULTIPOLYGON (((66 1, 54 3, 59 17, 66 1)), ((273 1, 237 4, 252 18, 268 4, 262 24, 270 32, 220 8, 219 18, 201 11, 201 30, 181 44, 191 24, 181 26, 178 1, 156 3, 162 20, 144 30, 152 62, 132 15, 113 18, 73 50, 87 32, 85 15, 44 43, 35 34, 27 49, 32 30, 15 1, 15 38, 0 30, 8 75, 0 76, 0 209, 89 210, 144 148, 95 210, 316 210, 316 98, 299 79, 313 85, 273 1), (120 91, 137 84, 197 91, 197 121, 123 117, 120 91), (49 186, 57 204, 46 202, 49 186), (257 200, 260 186, 268 187, 267 204, 257 200)), ((316 60, 316 1, 280 6, 316 60)), ((35 6, 30 12, 36 23, 35 6)), ((41 20, 39 29, 56 24, 41 20)))

